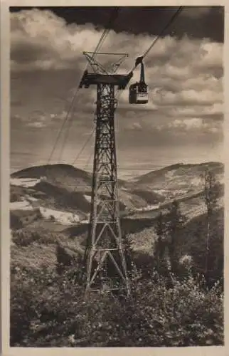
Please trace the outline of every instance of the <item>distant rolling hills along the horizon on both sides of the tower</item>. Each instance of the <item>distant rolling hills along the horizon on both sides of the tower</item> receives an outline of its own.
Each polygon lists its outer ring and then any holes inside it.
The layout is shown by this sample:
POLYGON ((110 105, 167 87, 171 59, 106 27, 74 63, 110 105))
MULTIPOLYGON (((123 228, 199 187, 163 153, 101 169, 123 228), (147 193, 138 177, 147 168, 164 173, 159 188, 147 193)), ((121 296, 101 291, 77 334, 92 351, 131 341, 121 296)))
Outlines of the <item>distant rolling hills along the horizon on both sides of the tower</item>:
MULTIPOLYGON (((218 162, 172 164, 129 182, 119 180, 120 209, 128 214, 128 211, 155 209, 171 199, 189 199, 203 189, 201 174, 206 168, 222 182, 224 166, 218 162)), ((40 204, 85 216, 90 212, 91 184, 91 173, 69 164, 29 167, 11 174, 11 201, 30 197, 36 200, 30 203, 33 206, 40 204)))

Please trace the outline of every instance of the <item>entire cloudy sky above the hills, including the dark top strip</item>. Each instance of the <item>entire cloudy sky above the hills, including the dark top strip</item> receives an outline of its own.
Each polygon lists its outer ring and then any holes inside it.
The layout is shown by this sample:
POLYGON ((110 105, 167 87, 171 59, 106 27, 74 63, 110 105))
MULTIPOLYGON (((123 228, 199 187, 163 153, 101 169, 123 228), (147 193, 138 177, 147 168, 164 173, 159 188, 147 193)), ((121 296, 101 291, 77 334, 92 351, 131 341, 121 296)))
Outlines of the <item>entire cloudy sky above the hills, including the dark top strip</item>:
MULTIPOLYGON (((102 46, 103 52, 129 53, 119 73, 132 69, 134 59, 176 10, 119 10, 102 46)), ((12 170, 47 163, 87 63, 82 51, 94 51, 111 11, 11 8, 12 170)), ((129 105, 128 90, 119 96, 116 132, 122 177, 175 162, 221 159, 223 16, 216 6, 185 7, 145 58, 149 104, 129 105)), ((132 81, 138 78, 136 70, 132 81)), ((87 142, 75 165, 92 167, 95 95, 95 88, 78 90, 70 126, 65 126, 51 162, 72 164, 87 142)))

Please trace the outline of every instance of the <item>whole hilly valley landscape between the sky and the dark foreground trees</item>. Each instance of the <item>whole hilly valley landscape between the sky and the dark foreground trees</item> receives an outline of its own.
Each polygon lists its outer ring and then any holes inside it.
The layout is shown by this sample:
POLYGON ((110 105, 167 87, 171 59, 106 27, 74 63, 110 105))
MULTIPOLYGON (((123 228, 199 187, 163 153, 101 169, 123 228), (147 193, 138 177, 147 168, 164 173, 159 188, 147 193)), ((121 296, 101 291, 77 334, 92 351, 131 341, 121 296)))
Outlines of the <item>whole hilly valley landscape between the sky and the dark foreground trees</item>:
MULTIPOLYGON (((179 201, 186 216, 186 226, 195 219, 204 220, 206 206, 201 174, 206 168, 214 172, 220 187, 217 214, 221 216, 218 229, 223 234, 223 164, 175 164, 119 182, 122 234, 131 236, 134 251, 151 254, 150 246, 156 239, 156 216, 159 211, 165 212, 174 199, 179 201)), ((21 261, 22 265, 24 261, 26 266, 37 268, 43 263, 54 266, 58 240, 69 251, 83 253, 90 215, 91 179, 91 174, 67 164, 30 167, 11 174, 12 261, 21 261), (27 236, 26 246, 21 246, 23 243, 15 237, 19 233, 27 236)))

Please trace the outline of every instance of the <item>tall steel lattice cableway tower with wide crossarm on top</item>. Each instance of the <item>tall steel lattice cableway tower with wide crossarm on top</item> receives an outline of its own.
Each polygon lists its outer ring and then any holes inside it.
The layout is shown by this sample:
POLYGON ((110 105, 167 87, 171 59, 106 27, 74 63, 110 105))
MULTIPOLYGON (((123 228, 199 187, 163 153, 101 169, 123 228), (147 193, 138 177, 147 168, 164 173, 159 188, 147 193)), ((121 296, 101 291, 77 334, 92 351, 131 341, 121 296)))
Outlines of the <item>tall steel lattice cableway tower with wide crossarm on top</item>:
MULTIPOLYGON (((95 61, 95 53, 84 54, 94 73, 85 70, 80 88, 97 86, 92 208, 85 249, 86 293, 91 290, 123 290, 128 295, 129 281, 122 246, 117 186, 115 87, 124 89, 132 73, 115 74, 126 54, 114 54, 119 56, 119 61, 108 69, 95 61)), ((108 56, 107 53, 96 54, 108 56)))

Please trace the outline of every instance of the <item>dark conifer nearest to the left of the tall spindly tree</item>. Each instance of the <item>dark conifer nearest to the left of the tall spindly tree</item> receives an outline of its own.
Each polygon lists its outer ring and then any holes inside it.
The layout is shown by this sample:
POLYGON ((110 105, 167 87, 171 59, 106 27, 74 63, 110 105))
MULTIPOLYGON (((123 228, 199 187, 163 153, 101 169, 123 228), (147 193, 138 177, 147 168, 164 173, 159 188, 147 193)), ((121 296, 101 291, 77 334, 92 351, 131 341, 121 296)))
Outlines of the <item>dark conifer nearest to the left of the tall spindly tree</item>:
POLYGON ((171 272, 176 273, 178 265, 177 242, 180 231, 186 219, 181 214, 179 202, 174 200, 169 206, 169 213, 166 214, 166 234, 168 236, 169 259, 171 272))

